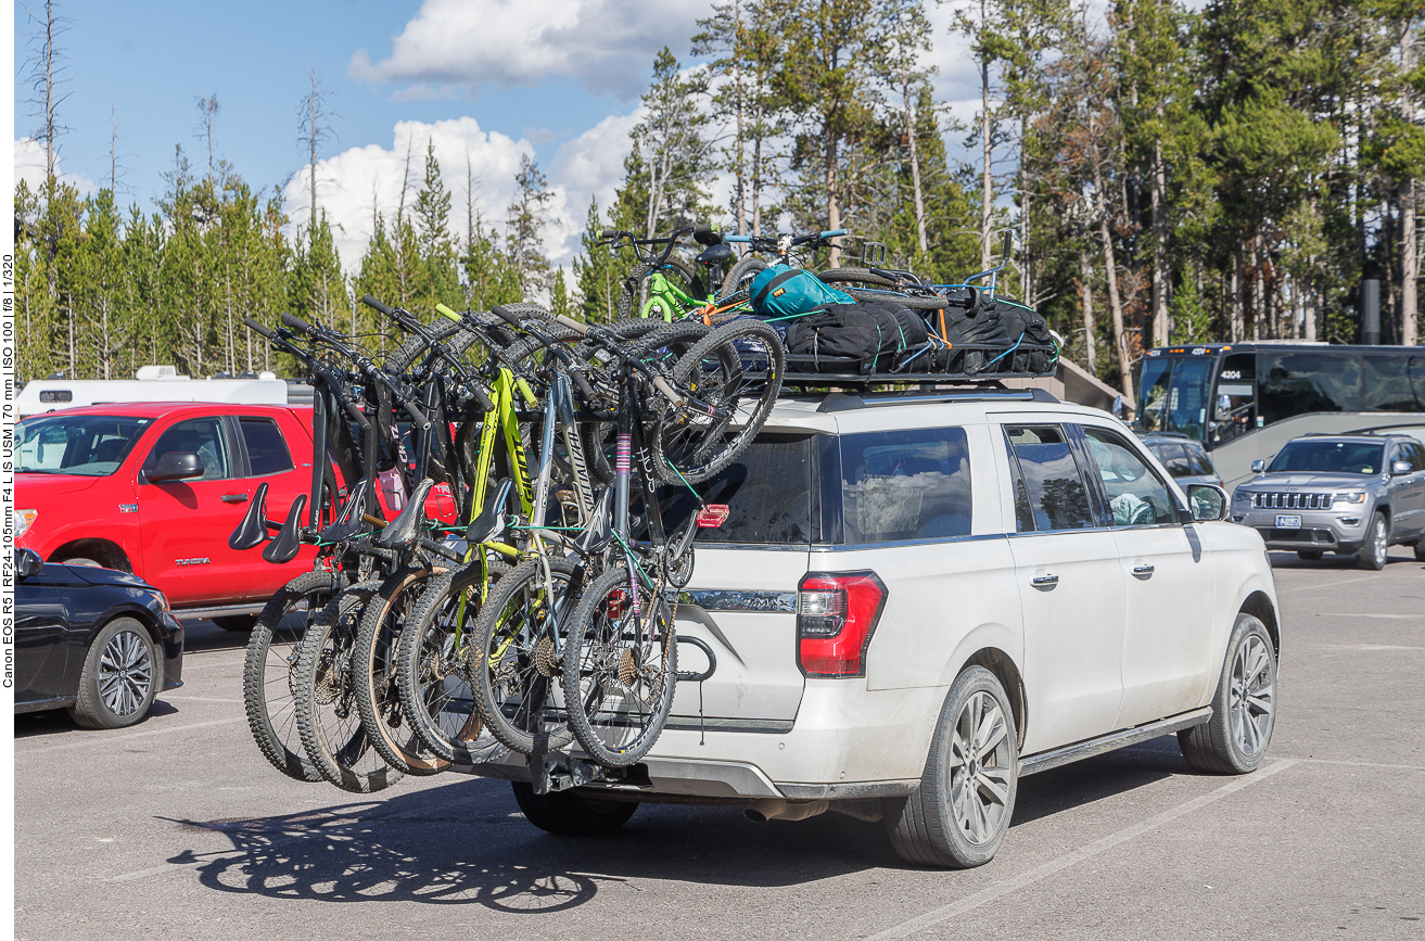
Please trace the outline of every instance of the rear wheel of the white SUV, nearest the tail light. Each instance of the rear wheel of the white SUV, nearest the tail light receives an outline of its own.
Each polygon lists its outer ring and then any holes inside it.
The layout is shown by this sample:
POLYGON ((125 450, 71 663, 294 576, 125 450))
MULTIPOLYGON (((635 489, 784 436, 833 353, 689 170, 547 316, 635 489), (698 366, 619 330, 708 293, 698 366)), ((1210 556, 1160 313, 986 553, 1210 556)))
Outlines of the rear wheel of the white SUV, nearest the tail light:
POLYGON ((906 863, 965 870, 995 857, 1019 790, 1015 713, 985 667, 956 677, 940 710, 921 784, 885 826, 906 863))

